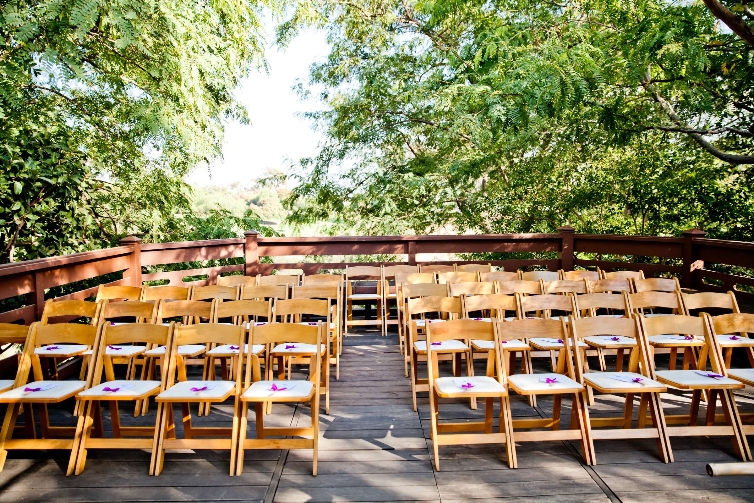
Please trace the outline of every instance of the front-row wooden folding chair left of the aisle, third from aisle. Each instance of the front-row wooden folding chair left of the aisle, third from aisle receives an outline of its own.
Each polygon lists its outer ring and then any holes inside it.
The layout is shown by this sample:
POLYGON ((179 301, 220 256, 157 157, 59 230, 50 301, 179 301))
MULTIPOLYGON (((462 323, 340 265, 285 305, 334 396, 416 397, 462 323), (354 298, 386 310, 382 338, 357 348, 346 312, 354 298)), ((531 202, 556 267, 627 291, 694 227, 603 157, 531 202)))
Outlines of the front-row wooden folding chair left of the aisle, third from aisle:
MULTIPOLYGON (((87 461, 88 449, 155 449, 160 421, 162 419, 162 403, 158 404, 155 426, 121 426, 121 415, 118 406, 121 402, 138 402, 165 390, 165 379, 152 380, 123 380, 115 378, 112 357, 106 349, 110 347, 128 347, 137 342, 147 342, 152 345, 169 345, 173 337, 175 324, 167 326, 156 324, 122 324, 110 326, 103 324, 101 343, 97 354, 93 356, 93 378, 90 386, 76 395, 81 403, 82 414, 78 418, 73 448, 66 474, 81 474, 87 461), (105 382, 102 374, 105 373, 105 382), (91 438, 91 431, 95 418, 100 416, 102 402, 107 402, 110 410, 112 438, 91 438), (146 437, 128 438, 123 437, 146 437)), ((149 473, 152 473, 152 467, 149 473)))

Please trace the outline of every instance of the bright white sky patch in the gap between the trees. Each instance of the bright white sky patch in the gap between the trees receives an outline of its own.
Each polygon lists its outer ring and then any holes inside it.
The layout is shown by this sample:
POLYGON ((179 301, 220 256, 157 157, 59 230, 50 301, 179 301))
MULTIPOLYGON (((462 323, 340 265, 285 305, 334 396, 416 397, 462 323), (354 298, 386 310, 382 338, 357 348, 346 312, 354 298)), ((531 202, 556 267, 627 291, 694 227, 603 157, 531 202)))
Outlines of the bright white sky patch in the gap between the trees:
MULTIPOLYGON (((268 29, 268 41, 274 40, 268 29)), ((210 166, 209 172, 198 167, 189 175, 194 186, 226 185, 241 182, 250 185, 267 168, 286 172, 290 160, 298 161, 317 152, 323 138, 311 130, 298 112, 320 108, 314 98, 302 102, 291 87, 297 78, 308 82, 308 67, 329 54, 323 32, 303 32, 285 50, 268 43, 266 57, 269 75, 264 71, 250 75, 241 83, 236 96, 247 107, 250 124, 231 122, 225 126, 223 158, 210 166)))

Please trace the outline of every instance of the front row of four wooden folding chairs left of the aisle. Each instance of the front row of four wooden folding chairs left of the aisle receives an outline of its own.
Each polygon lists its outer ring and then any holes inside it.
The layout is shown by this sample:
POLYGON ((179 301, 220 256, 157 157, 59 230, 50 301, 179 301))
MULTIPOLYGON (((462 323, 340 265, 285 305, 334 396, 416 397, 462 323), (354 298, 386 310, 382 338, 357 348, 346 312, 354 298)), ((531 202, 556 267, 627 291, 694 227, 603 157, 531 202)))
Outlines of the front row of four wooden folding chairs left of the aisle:
MULTIPOLYGON (((217 305, 219 300, 213 302, 217 305)), ((250 326, 250 348, 271 346, 310 346, 319 348, 327 341, 322 322, 314 326, 296 323, 270 323, 250 326)), ((271 367, 265 366, 262 377, 259 351, 247 351, 234 363, 233 377, 221 381, 188 379, 185 358, 179 348, 186 345, 228 345, 231 348, 247 344, 246 330, 228 324, 120 324, 108 322, 97 326, 85 324, 52 324, 41 322, 31 327, 0 325, 0 341, 22 341, 16 379, 0 393, 0 403, 8 410, 0 431, 0 469, 11 449, 69 449, 67 474, 84 470, 90 449, 148 449, 152 451, 149 474, 160 474, 165 449, 213 449, 230 452, 229 473, 241 474, 245 449, 314 449, 313 474, 317 474, 317 441, 319 438, 320 386, 323 367, 327 367, 326 352, 309 360, 308 379, 273 379, 271 367), (21 332, 26 332, 22 337, 21 332), (87 372, 81 380, 46 380, 38 365, 37 351, 50 345, 79 345, 93 348, 87 372), (147 342, 167 348, 161 379, 117 379, 113 367, 112 348, 147 342), (29 376, 32 375, 31 382, 29 376), (104 376, 103 376, 104 374, 104 376), (81 414, 75 428, 52 427, 41 424, 41 438, 35 434, 31 415, 32 405, 46 409, 49 403, 60 403, 75 397, 81 403, 81 414), (158 404, 154 427, 121 426, 118 405, 152 397, 158 404), (222 403, 232 398, 234 409, 229 428, 196 427, 192 425, 191 403, 222 403), (112 437, 103 434, 100 406, 109 404, 112 437), (264 425, 267 406, 277 402, 311 403, 311 426, 306 428, 269 428, 264 425), (182 406, 183 437, 176 438, 173 406, 182 406), (247 435, 247 411, 253 404, 256 411, 256 438, 247 435), (23 407, 27 437, 13 438, 17 417, 23 407), (29 428, 29 425, 31 428, 29 428), (279 437, 309 437, 280 439, 279 437), (64 437, 64 438, 57 438, 64 437), (273 438, 268 438, 273 437, 273 438)), ((274 351, 274 350, 273 350, 274 351)), ((280 369, 280 367, 279 367, 280 369)), ((7 384, 7 383, 5 383, 7 384)))

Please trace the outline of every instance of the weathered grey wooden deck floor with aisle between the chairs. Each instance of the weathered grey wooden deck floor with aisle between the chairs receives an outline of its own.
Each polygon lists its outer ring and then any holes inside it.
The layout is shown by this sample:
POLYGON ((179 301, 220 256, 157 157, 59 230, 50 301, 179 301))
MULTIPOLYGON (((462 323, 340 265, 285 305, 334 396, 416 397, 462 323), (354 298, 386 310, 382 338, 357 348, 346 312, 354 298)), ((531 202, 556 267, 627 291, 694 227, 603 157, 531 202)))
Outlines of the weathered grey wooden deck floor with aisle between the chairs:
MULTIPOLYGON (((0 473, 0 502, 754 501, 754 477, 706 475, 707 462, 734 461, 730 443, 722 438, 676 438, 676 462, 669 465, 657 459, 653 441, 603 440, 596 442, 599 464, 594 467, 582 464, 578 443, 525 443, 517 447, 517 470, 507 468, 502 447, 441 447, 443 470, 435 472, 428 449, 427 394, 419 394, 415 413, 397 336, 349 336, 341 366, 340 380, 333 379, 330 414, 321 416, 317 477, 311 476, 311 451, 305 450, 247 451, 241 477, 228 477, 227 452, 169 452, 159 477, 147 474, 148 452, 90 452, 78 477, 65 475, 67 452, 11 452, 0 473)), ((742 412, 754 412, 754 395, 737 394, 742 412)), ((551 412, 546 399, 532 409, 513 394, 511 403, 519 418, 551 412)), ((687 409, 688 398, 667 394, 664 403, 666 412, 673 413, 676 407, 687 409)), ((51 411, 51 419, 72 424, 71 407, 65 405, 51 411)), ((567 421, 566 400, 564 406, 567 421)), ((231 407, 216 406, 209 417, 194 419, 202 425, 227 425, 231 407)), ((124 425, 154 422, 153 412, 133 419, 121 410, 124 425)), ((593 416, 618 410, 622 406, 609 395, 597 395, 596 406, 590 407, 593 416)), ((267 420, 303 425, 308 413, 306 407, 280 405, 267 420)), ((440 403, 441 420, 478 416, 483 409, 470 410, 467 402, 440 403)), ((253 425, 253 414, 251 418, 253 425)))

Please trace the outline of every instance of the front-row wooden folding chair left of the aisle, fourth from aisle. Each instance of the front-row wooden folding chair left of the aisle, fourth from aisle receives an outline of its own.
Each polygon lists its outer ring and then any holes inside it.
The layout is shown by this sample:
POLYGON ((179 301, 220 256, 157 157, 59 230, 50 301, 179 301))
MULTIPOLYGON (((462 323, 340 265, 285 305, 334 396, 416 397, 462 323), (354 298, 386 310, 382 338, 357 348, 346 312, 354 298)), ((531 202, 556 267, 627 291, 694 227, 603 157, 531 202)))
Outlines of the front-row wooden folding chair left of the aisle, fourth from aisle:
MULTIPOLYGON (((2 430, 0 430, 0 471, 5 466, 8 450, 11 449, 72 449, 75 428, 69 426, 51 426, 48 416, 48 403, 60 403, 78 394, 91 383, 93 366, 90 359, 89 370, 83 381, 54 381, 45 380, 41 372, 39 359, 35 355, 37 348, 50 345, 75 345, 83 348, 97 348, 100 343, 98 327, 84 324, 59 323, 43 325, 35 322, 29 327, 29 335, 23 343, 23 353, 18 360, 18 370, 13 388, 0 393, 0 403, 8 403, 5 411, 2 430), (33 382, 29 382, 29 373, 33 374, 33 382), (27 406, 37 404, 40 438, 32 434, 29 438, 12 438, 16 430, 16 421, 21 406, 26 411, 27 406), (67 437, 64 439, 53 437, 67 437)), ((33 427, 31 414, 26 415, 26 425, 33 427)), ((32 428, 26 428, 31 434, 32 428)), ((102 428, 99 425, 98 432, 102 428)))

